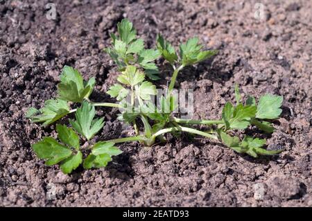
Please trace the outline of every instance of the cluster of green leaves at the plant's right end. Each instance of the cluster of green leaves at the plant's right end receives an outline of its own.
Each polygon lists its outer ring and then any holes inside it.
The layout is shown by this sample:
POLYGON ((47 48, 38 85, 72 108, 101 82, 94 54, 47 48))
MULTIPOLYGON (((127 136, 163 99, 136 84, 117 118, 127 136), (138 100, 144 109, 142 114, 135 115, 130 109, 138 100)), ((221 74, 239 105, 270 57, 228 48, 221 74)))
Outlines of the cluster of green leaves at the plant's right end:
POLYGON ((269 120, 278 118, 281 114, 282 96, 266 94, 260 97, 259 103, 252 96, 248 96, 245 104, 241 103, 239 89, 235 88, 236 105, 227 102, 222 111, 224 127, 218 130, 218 137, 225 145, 239 153, 247 153, 252 157, 258 154, 277 154, 283 150, 265 150, 261 148, 266 144, 265 139, 245 136, 243 141, 238 136, 229 136, 228 130, 244 130, 250 125, 255 125, 266 133, 274 132, 274 127, 269 120))

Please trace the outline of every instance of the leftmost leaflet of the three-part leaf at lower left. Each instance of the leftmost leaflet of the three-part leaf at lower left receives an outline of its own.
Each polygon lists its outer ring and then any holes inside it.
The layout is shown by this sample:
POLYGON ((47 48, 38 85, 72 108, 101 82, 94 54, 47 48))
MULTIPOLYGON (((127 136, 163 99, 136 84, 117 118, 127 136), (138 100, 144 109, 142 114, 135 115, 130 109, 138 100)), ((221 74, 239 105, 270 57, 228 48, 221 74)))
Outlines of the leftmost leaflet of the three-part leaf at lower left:
POLYGON ((38 158, 46 160, 47 166, 59 163, 72 154, 71 149, 58 143, 52 137, 44 137, 42 141, 33 144, 32 147, 38 158))

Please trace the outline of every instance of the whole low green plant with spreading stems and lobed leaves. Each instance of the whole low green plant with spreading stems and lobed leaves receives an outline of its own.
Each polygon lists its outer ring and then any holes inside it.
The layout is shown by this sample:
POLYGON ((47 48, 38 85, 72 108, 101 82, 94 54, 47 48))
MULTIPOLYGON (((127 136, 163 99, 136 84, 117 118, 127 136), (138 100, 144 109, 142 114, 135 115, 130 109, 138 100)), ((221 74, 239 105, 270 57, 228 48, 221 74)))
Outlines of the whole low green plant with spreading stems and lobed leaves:
POLYGON ((180 52, 176 53, 175 48, 161 35, 157 35, 157 49, 145 49, 143 39, 137 38, 137 32, 128 19, 119 22, 117 30, 118 35, 111 35, 112 47, 105 49, 121 71, 117 78, 118 83, 107 91, 112 98, 116 98, 117 103, 94 103, 89 100, 95 79, 84 81, 76 69, 65 66, 60 76, 57 98, 46 100, 45 106, 41 109, 31 107, 28 110, 27 118, 33 122, 43 122, 44 125, 76 112, 76 121, 69 119, 73 129, 66 125, 56 126, 60 142, 52 137, 46 137, 33 144, 33 150, 40 159, 46 159, 46 165, 60 163, 64 173, 71 173, 81 163, 85 169, 100 168, 107 166, 107 163, 112 161, 112 156, 121 154, 121 150, 114 146, 116 143, 139 141, 142 145, 152 146, 156 141, 166 141, 166 133, 178 135, 182 132, 220 141, 228 148, 252 157, 282 151, 264 149, 265 139, 245 136, 241 140, 239 136, 233 135, 236 130, 245 130, 252 126, 258 127, 263 132, 272 133, 274 127, 271 120, 281 114, 280 107, 283 102, 281 96, 266 94, 261 96, 258 104, 254 97, 248 96, 243 102, 236 86, 236 104, 227 102, 223 107, 222 118, 214 120, 177 118, 175 114, 177 96, 173 93, 177 74, 188 65, 211 58, 217 51, 202 51, 202 45, 198 43, 198 38, 194 37, 181 44, 180 52), (150 80, 159 79, 159 69, 154 61, 160 55, 173 67, 173 75, 166 93, 155 100, 156 86, 146 77, 150 80), (80 107, 71 109, 72 103, 78 103, 80 107), (118 107, 121 112, 118 119, 132 124, 136 136, 94 143, 92 138, 104 125, 103 118, 94 119, 95 107, 98 106, 118 107), (210 130, 201 131, 193 125, 209 125, 210 130), (88 141, 88 145, 80 145, 81 139, 88 141))

